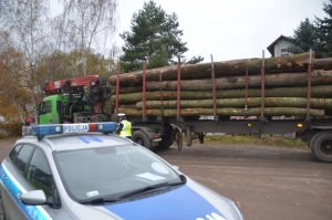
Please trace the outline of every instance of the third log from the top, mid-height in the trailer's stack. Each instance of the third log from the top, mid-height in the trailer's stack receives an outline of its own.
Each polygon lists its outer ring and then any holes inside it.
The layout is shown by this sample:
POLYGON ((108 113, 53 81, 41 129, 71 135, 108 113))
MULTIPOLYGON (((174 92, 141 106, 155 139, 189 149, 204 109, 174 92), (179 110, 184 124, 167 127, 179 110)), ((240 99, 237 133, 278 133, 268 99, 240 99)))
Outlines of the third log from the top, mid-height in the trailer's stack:
MULTIPOLYGON (((307 97, 308 88, 307 87, 276 87, 276 88, 267 88, 266 96, 267 97, 307 97), (291 91, 291 93, 290 93, 291 91)), ((259 88, 250 88, 248 90, 249 97, 260 97, 259 88)), ((136 103, 142 101, 142 93, 128 93, 120 95, 120 103, 136 103)), ((158 92, 147 92, 146 99, 147 101, 172 101, 176 99, 177 93, 176 91, 163 91, 158 92)), ((218 98, 237 98, 245 97, 245 90, 220 90, 217 91, 218 98)), ((332 86, 331 85, 319 85, 313 86, 311 92, 312 97, 332 97, 332 86)), ((181 99, 208 99, 212 97, 211 91, 181 91, 181 99)), ((115 95, 112 96, 112 102, 115 103, 115 95)))

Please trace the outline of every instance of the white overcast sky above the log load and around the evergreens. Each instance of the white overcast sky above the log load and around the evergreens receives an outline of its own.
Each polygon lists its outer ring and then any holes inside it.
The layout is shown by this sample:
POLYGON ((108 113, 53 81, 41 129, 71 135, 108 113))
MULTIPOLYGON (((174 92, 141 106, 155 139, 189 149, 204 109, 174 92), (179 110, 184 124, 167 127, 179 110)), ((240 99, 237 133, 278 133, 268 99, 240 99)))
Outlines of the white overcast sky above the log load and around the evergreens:
MULTIPOLYGON (((118 33, 131 30, 134 12, 144 0, 118 0, 116 44, 123 45, 118 33)), ((155 0, 167 12, 178 17, 179 29, 187 42, 188 59, 201 55, 204 62, 261 57, 280 34, 293 35, 301 21, 325 17, 328 0, 155 0)))

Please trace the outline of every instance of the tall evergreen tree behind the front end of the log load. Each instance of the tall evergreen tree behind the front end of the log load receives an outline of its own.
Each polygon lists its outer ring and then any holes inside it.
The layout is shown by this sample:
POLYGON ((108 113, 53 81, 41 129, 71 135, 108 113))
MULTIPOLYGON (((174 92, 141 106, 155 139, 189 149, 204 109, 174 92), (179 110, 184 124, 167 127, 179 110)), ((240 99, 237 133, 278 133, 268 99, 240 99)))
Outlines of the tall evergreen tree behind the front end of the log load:
POLYGON ((132 31, 121 34, 125 41, 121 57, 123 70, 141 70, 144 57, 148 69, 172 64, 174 57, 188 51, 178 25, 175 13, 167 14, 154 1, 145 2, 133 15, 132 31))

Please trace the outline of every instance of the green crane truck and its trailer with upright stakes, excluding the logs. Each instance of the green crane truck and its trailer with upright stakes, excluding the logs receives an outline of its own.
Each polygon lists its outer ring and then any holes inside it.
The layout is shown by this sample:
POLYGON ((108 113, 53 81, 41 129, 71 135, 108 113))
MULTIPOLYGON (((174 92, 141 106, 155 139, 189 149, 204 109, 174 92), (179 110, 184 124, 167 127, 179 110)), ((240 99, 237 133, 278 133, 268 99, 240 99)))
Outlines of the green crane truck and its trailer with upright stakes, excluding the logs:
MULTIPOLYGON (((261 103, 260 115, 257 117, 236 117, 231 119, 228 116, 218 115, 217 111, 217 86, 214 61, 211 61, 211 93, 212 109, 209 116, 183 116, 181 115, 181 66, 177 65, 177 96, 176 96, 176 116, 165 116, 163 98, 160 99, 159 114, 151 116, 146 107, 146 62, 143 64, 142 80, 142 115, 127 116, 133 123, 133 140, 145 146, 148 149, 167 149, 176 143, 178 149, 183 147, 183 137, 186 138, 186 145, 193 145, 193 138, 198 137, 204 143, 204 137, 208 133, 222 133, 231 135, 256 135, 261 134, 295 134, 297 137, 308 143, 312 157, 320 161, 332 163, 332 118, 317 118, 310 115, 311 112, 311 88, 312 88, 312 62, 308 64, 307 74, 307 115, 301 118, 271 117, 266 114, 266 73, 264 59, 261 65, 261 103)), ((112 111, 105 111, 105 102, 110 98, 111 88, 107 83, 97 75, 81 78, 71 78, 45 84, 44 91, 49 95, 43 99, 40 106, 40 124, 50 123, 87 123, 115 119, 116 114, 121 113, 125 106, 121 104, 120 91, 121 80, 120 71, 116 73, 116 84, 113 85, 115 101, 112 111)), ((163 73, 160 72, 160 82, 163 73)), ((248 84, 249 75, 246 72, 246 105, 243 112, 248 111, 248 84)), ((162 85, 162 83, 160 83, 162 85)), ((331 86, 331 85, 328 85, 331 86)), ((163 87, 160 86, 160 97, 163 97, 163 87)), ((199 93, 199 91, 197 92, 199 93)), ((331 115, 331 114, 330 114, 331 115)))

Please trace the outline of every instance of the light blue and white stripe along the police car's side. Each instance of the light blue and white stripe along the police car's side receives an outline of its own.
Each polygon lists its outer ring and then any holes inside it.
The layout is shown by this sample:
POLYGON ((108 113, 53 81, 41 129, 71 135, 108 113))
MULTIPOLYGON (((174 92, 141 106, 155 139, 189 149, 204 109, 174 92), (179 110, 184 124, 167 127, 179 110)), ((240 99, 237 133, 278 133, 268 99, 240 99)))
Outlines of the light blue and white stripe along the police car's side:
POLYGON ((27 214, 29 219, 50 220, 52 219, 48 212, 41 206, 27 206, 19 198, 19 193, 24 193, 27 190, 18 182, 18 180, 9 172, 4 165, 1 166, 1 181, 3 186, 9 190, 12 198, 15 200, 19 208, 27 214), (2 175, 6 175, 6 180, 2 179, 2 175))

